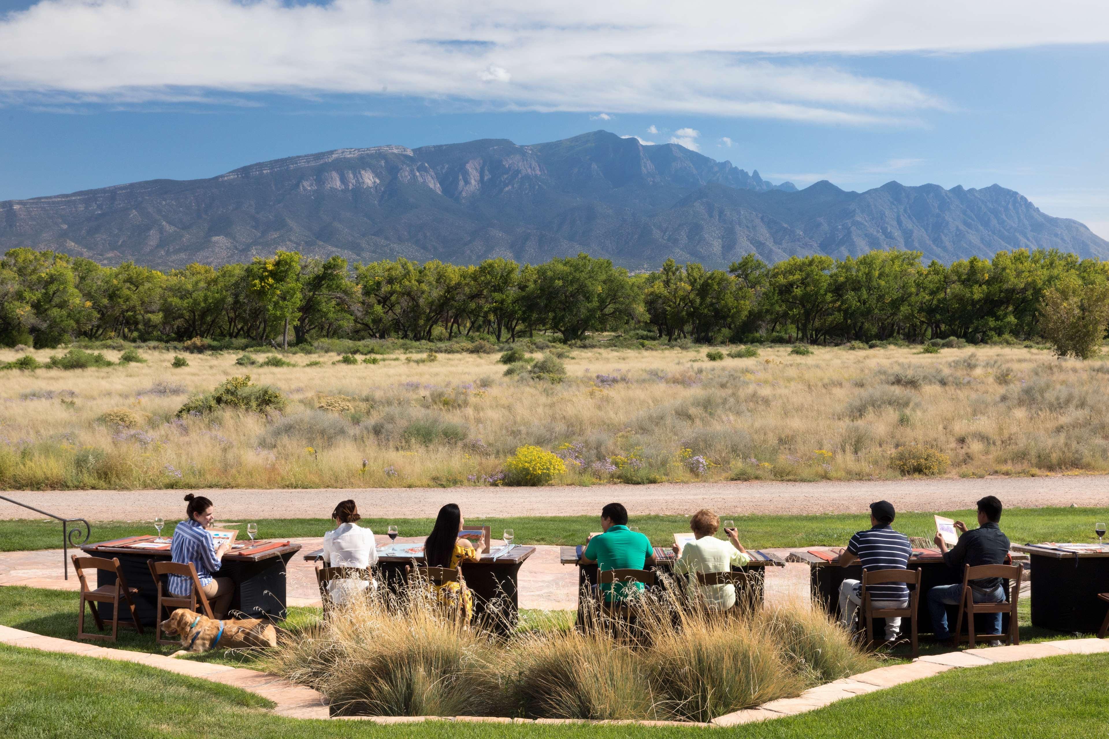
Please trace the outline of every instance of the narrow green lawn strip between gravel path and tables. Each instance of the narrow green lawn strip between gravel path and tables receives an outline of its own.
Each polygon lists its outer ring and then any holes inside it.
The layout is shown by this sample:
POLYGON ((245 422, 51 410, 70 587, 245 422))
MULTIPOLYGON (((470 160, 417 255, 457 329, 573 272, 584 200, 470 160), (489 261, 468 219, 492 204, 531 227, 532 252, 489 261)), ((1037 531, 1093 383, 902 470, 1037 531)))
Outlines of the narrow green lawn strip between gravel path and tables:
MULTIPOLYGON (((218 505, 218 500, 216 500, 218 505)), ((465 513, 465 505, 462 506, 465 513)), ((965 511, 937 511, 938 514, 976 524, 976 513, 965 511)), ((1011 509, 1001 517, 1001 528, 1014 544, 1027 542, 1096 542, 1093 522, 1109 517, 1109 509, 1011 509)), ((862 514, 816 515, 730 515, 740 531, 740 541, 753 548, 842 546, 851 535, 869 526, 869 519, 862 514)), ((246 522, 236 522, 242 538, 246 537, 246 522)), ((323 536, 333 528, 330 519, 257 519, 258 535, 263 538, 323 536)), ((385 533, 389 524, 397 524, 401 536, 426 536, 434 519, 363 519, 363 524, 377 533, 385 533)), ((689 531, 686 516, 635 516, 630 522, 659 546, 672 543, 672 534, 689 531)), ((516 530, 518 544, 581 544, 591 531, 598 531, 598 516, 521 516, 517 519, 467 517, 472 526, 488 525, 495 538, 505 528, 516 530)), ((173 520, 163 531, 173 532, 173 520)), ((903 513, 895 527, 909 536, 935 535, 932 513, 903 513)), ((92 524, 89 541, 102 542, 134 534, 153 534, 151 523, 108 522, 92 524)), ((0 521, 0 551, 20 552, 61 547, 61 525, 54 521, 0 521)))

